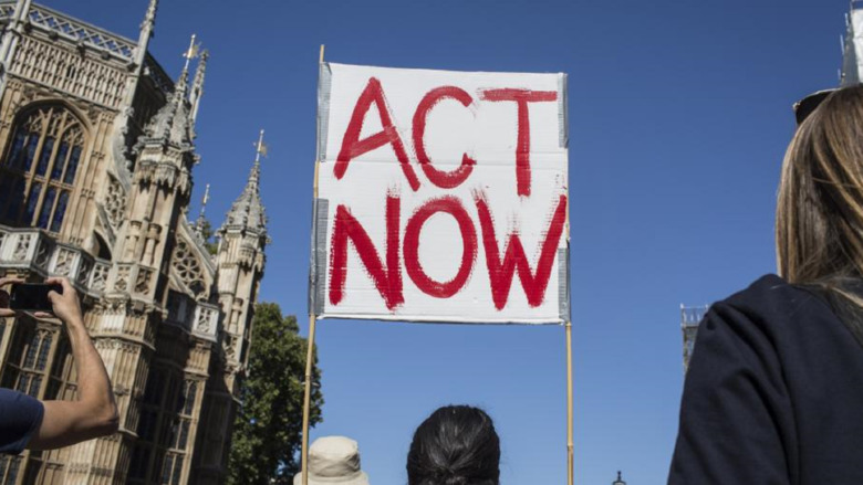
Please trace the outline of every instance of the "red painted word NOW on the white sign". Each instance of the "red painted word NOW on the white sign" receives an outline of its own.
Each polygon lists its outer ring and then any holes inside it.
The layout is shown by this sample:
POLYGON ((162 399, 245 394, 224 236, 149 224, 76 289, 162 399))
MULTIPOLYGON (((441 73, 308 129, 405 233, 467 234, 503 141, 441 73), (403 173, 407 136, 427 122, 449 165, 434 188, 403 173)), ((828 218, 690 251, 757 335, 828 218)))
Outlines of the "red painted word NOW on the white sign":
MULTIPOLYGON (((495 232, 493 218, 489 205, 481 193, 474 198, 479 214, 479 228, 482 236, 482 247, 486 254, 491 297, 495 307, 500 310, 507 305, 512 278, 518 273, 519 282, 531 307, 538 307, 545 297, 551 270, 554 264, 558 243, 563 234, 566 221, 566 196, 560 196, 558 204, 549 220, 549 228, 541 242, 541 251, 536 271, 524 253, 518 229, 506 239, 506 247, 501 255, 498 236, 495 232)), ((388 194, 386 199, 386 262, 381 260, 368 233, 353 217, 351 210, 340 204, 335 211, 333 235, 330 251, 330 303, 339 305, 344 297, 344 285, 347 276, 347 243, 351 242, 365 266, 365 271, 374 282, 377 292, 391 310, 405 302, 402 282, 402 259, 410 281, 423 293, 437 297, 449 298, 459 293, 474 270, 477 260, 478 238, 474 222, 461 200, 445 196, 430 199, 420 205, 408 219, 402 241, 401 224, 402 203, 397 196, 388 194), (461 264, 458 273, 448 282, 433 280, 419 263, 419 233, 426 221, 437 213, 449 214, 458 224, 461 238, 461 264), (404 253, 404 256, 399 253, 404 253)))

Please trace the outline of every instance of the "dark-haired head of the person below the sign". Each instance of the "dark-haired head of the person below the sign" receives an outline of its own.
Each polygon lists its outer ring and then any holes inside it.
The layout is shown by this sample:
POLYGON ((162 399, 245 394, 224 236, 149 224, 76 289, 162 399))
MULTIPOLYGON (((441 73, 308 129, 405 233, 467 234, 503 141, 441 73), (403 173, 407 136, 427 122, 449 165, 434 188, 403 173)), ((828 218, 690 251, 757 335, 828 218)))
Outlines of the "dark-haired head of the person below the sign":
POLYGON ((414 433, 408 485, 498 485, 500 440, 491 418, 469 405, 447 405, 414 433))

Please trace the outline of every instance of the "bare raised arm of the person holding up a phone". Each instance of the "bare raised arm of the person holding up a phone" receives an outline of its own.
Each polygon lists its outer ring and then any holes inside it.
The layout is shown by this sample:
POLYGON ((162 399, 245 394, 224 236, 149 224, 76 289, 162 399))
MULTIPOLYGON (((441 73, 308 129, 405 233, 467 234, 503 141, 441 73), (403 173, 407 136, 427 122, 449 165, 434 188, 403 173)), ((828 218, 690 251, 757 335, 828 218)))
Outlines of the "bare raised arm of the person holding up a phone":
POLYGON ((118 425, 111 380, 102 357, 84 327, 75 288, 65 278, 48 278, 46 283, 63 286, 62 295, 51 292, 49 298, 54 307, 54 315, 63 320, 69 333, 77 371, 77 401, 43 402, 44 417, 39 431, 27 445, 30 450, 52 450, 113 434, 118 425))

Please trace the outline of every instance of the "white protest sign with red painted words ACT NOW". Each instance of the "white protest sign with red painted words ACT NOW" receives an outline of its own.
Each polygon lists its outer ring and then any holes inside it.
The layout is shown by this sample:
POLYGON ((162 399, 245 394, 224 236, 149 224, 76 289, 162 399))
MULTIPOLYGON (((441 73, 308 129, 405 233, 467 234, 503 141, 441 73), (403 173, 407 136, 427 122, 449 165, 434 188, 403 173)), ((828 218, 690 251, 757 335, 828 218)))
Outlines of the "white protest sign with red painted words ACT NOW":
POLYGON ((321 318, 569 318, 564 74, 322 64, 321 318))

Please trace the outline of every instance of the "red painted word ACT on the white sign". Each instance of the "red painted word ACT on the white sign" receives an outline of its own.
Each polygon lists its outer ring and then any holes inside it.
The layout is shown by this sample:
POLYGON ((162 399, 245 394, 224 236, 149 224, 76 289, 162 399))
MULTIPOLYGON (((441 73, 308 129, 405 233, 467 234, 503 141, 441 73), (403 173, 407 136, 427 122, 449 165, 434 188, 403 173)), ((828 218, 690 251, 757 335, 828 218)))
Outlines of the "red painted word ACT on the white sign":
MULTIPOLYGON (((519 196, 530 196, 530 103, 552 102, 558 99, 555 91, 529 91, 517 88, 484 89, 479 93, 482 101, 488 102, 512 102, 518 106, 518 139, 516 144, 516 184, 519 196)), ((451 171, 439 170, 435 168, 425 148, 426 120, 432 108, 444 99, 451 98, 462 106, 468 107, 474 103, 474 98, 460 87, 441 86, 429 91, 414 112, 413 140, 416 150, 417 160, 428 181, 441 189, 453 189, 461 184, 474 170, 476 160, 464 154, 461 166, 451 171)), ((398 136, 393 125, 393 117, 386 104, 384 89, 376 77, 371 77, 363 93, 354 105, 351 114, 351 120, 342 138, 342 148, 339 150, 339 157, 333 168, 336 179, 342 179, 347 171, 347 166, 354 158, 375 150, 389 144, 399 161, 402 171, 407 179, 407 183, 414 191, 419 190, 419 179, 410 166, 410 160, 405 150, 405 144, 398 136), (383 129, 366 138, 360 139, 360 133, 363 130, 363 124, 372 105, 377 108, 383 129)))

